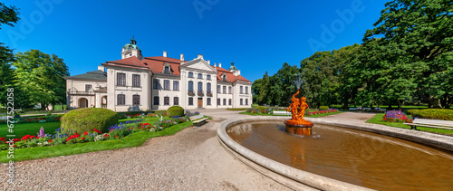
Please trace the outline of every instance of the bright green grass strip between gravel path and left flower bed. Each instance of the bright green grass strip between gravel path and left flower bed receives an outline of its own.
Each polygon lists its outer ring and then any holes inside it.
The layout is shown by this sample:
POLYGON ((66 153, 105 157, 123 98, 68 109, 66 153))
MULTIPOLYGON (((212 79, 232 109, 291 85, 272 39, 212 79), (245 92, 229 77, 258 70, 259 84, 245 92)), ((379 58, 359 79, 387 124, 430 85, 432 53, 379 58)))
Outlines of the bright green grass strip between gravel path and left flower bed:
MULTIPOLYGON (((100 142, 57 145, 52 147, 19 148, 14 150, 14 161, 24 161, 39 158, 54 158, 100 150, 138 147, 141 146, 149 138, 174 135, 178 131, 186 129, 191 125, 192 122, 188 121, 185 123, 179 123, 178 125, 174 125, 160 131, 137 132, 130 134, 130 136, 122 139, 111 139, 100 142)), ((9 162, 10 158, 7 158, 7 153, 8 150, 0 151, 0 162, 9 162)))

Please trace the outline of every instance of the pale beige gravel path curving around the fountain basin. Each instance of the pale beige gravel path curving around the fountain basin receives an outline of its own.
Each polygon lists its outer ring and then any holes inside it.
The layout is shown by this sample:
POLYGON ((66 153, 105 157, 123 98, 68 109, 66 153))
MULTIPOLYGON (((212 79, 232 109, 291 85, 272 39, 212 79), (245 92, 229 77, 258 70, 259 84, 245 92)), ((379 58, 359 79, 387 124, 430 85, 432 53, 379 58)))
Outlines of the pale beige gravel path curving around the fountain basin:
MULTIPOLYGON (((288 190, 232 157, 218 142, 218 122, 235 118, 238 112, 199 111, 213 120, 174 136, 150 138, 141 147, 16 163, 14 185, 8 185, 6 176, 1 176, 0 187, 12 190, 288 190)), ((361 119, 365 115, 342 113, 336 116, 361 119)), ((4 170, 6 174, 5 165, 4 170)))

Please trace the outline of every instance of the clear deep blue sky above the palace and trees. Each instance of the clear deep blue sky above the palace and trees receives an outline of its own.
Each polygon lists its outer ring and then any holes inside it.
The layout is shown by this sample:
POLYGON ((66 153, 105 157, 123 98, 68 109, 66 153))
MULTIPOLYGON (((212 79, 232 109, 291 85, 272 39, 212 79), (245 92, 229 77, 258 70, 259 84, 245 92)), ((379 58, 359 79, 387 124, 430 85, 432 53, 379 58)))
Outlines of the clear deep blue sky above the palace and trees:
POLYGON ((64 59, 71 75, 119 60, 132 35, 142 53, 192 60, 203 54, 250 81, 299 63, 315 51, 361 43, 385 1, 12 1, 21 20, 0 42, 14 53, 37 49, 64 59), (133 3, 132 3, 133 2, 133 3))

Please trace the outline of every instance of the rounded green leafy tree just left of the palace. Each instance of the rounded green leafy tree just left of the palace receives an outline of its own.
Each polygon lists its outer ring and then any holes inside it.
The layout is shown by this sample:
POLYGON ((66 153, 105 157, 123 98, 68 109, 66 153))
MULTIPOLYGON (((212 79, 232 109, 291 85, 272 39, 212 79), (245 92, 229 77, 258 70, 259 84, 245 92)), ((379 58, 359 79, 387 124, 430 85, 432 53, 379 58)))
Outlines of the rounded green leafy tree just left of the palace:
POLYGON ((63 59, 30 50, 16 53, 13 66, 16 68, 14 84, 26 92, 31 103, 41 103, 46 108, 49 104, 65 102, 66 82, 63 77, 69 76, 69 72, 63 59))

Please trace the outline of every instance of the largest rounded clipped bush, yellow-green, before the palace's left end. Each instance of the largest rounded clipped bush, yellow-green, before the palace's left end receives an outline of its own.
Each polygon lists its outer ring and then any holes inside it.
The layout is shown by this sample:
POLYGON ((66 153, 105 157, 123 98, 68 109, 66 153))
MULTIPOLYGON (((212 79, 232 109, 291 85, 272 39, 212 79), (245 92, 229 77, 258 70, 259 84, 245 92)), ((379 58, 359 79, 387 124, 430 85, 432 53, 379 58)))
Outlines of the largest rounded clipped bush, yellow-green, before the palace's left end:
POLYGON ((101 108, 82 108, 71 110, 60 119, 63 132, 93 131, 94 129, 108 132, 112 125, 118 123, 118 114, 112 110, 101 108))

